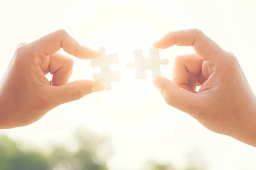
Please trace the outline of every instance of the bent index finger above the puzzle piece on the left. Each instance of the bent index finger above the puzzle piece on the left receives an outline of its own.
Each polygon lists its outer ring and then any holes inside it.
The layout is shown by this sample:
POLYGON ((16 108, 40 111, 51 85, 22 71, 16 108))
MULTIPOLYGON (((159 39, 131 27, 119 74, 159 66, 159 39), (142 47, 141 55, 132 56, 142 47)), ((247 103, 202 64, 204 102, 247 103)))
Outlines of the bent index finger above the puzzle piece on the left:
POLYGON ((61 48, 68 54, 80 59, 99 57, 100 53, 79 44, 67 31, 59 29, 32 42, 35 48, 46 55, 52 55, 61 48))

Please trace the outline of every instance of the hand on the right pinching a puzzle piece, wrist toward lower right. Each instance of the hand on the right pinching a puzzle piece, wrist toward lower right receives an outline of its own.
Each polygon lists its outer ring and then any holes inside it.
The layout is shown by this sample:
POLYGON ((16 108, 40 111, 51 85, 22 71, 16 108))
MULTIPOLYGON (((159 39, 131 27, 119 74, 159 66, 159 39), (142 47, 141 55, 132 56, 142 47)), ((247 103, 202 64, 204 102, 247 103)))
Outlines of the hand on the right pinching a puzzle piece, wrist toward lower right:
POLYGON ((197 29, 173 31, 154 43, 173 45, 192 46, 196 54, 175 59, 173 82, 154 79, 166 103, 213 132, 256 147, 256 98, 236 57, 197 29))

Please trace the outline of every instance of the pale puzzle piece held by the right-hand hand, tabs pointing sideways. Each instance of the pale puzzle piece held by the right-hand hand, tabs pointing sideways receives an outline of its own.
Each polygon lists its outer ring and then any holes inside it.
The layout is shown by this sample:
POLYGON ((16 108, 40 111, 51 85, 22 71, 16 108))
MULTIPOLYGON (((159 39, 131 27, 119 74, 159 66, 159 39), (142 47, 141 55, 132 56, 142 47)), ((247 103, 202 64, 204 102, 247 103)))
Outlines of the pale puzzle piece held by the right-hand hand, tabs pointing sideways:
POLYGON ((149 49, 150 57, 143 57, 143 50, 134 50, 134 62, 128 63, 128 68, 135 68, 136 79, 145 79, 145 71, 151 70, 152 77, 161 76, 160 65, 169 64, 168 59, 160 59, 159 50, 149 49))

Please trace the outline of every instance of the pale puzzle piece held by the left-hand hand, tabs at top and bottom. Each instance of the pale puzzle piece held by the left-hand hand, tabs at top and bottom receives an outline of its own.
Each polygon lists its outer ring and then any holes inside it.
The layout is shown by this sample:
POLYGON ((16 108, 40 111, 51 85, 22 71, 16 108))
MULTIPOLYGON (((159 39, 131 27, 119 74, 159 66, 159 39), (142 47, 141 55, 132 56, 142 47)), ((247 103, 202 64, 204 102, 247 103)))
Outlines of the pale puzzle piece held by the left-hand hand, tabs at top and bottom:
POLYGON ((120 71, 111 70, 112 64, 118 64, 117 54, 105 54, 105 47, 99 48, 101 56, 91 59, 91 65, 93 68, 100 67, 101 72, 99 74, 93 74, 95 81, 102 81, 106 83, 106 90, 111 91, 111 82, 121 81, 120 71))

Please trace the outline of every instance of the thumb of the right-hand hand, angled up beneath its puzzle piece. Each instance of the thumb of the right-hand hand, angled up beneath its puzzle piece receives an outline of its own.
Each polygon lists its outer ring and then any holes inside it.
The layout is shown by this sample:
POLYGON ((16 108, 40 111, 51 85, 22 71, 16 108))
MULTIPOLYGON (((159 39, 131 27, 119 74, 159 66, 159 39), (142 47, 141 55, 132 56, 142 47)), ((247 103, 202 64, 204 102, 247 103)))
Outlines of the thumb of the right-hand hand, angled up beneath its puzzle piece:
POLYGON ((189 114, 198 111, 200 104, 198 94, 179 88, 172 81, 164 77, 155 78, 153 84, 160 91, 168 105, 189 114))

